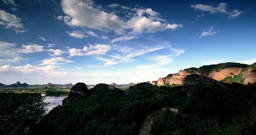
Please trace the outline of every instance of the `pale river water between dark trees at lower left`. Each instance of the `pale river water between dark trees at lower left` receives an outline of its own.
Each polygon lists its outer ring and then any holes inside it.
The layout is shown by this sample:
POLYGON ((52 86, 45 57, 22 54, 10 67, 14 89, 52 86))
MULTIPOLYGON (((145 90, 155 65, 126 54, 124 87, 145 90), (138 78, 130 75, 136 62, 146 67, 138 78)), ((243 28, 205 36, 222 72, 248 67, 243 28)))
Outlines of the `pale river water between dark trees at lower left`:
MULTIPOLYGON (((45 94, 41 94, 42 97, 45 97, 45 94)), ((48 111, 52 110, 53 107, 56 107, 58 105, 62 105, 62 100, 65 99, 66 97, 45 97, 45 102, 48 103, 48 111)))

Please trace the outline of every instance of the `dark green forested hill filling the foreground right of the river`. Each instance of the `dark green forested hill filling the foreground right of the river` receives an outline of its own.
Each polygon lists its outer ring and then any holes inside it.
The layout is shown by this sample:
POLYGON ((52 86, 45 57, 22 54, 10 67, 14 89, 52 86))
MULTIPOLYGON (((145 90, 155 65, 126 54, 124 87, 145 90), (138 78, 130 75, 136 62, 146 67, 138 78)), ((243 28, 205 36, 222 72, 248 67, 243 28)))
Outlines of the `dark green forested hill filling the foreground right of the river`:
POLYGON ((256 133, 256 83, 198 81, 159 87, 144 82, 130 86, 126 93, 108 84, 97 84, 88 90, 73 89, 71 93, 81 92, 80 96, 70 97, 52 109, 31 133, 138 134, 156 111, 160 115, 144 134, 256 133), (177 108, 179 113, 162 111, 162 107, 177 108))

